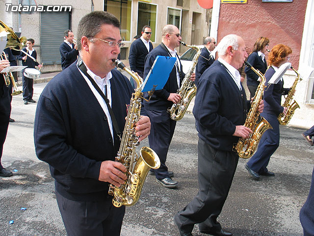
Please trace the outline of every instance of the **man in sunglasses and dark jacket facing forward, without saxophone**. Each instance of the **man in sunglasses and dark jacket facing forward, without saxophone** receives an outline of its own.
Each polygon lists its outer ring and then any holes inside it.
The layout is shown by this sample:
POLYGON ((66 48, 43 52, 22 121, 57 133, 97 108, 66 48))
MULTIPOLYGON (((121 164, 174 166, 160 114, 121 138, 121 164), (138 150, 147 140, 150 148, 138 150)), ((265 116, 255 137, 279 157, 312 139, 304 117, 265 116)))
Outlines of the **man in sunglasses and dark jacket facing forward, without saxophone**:
POLYGON ((131 70, 137 72, 142 78, 144 74, 145 57, 153 50, 153 44, 150 41, 151 36, 152 29, 149 26, 144 26, 142 36, 133 41, 130 47, 129 62, 131 70))

